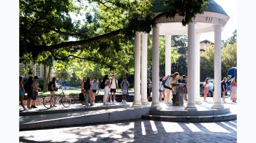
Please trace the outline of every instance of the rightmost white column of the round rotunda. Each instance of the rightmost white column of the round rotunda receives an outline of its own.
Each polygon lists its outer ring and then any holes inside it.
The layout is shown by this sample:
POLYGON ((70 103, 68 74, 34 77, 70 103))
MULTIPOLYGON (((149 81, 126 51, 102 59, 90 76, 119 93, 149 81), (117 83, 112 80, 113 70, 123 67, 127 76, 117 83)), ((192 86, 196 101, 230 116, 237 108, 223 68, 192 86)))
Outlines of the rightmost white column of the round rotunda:
POLYGON ((222 109, 222 26, 214 26, 214 104, 211 108, 222 109))

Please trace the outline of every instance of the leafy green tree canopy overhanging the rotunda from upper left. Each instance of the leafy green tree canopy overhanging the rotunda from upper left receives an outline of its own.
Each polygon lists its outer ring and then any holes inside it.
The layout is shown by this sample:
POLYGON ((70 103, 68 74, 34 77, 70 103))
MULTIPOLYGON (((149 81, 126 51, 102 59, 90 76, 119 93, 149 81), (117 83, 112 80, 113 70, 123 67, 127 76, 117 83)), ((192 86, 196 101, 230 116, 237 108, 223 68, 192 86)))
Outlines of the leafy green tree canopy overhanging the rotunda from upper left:
POLYGON ((132 60, 135 31, 149 33, 157 18, 176 14, 184 17, 185 26, 208 4, 207 0, 162 1, 172 8, 153 16, 151 2, 20 0, 20 62, 52 64, 77 58, 116 69, 132 60))

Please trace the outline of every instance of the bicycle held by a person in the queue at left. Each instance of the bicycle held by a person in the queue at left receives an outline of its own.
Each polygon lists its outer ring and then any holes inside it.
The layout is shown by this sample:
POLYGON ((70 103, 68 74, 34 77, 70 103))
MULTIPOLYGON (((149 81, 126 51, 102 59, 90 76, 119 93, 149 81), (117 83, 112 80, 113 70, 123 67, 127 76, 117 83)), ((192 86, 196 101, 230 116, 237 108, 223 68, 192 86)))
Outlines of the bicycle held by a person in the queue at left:
MULTIPOLYGON (((64 106, 64 107, 69 107, 70 104, 71 104, 71 98, 70 96, 67 96, 65 95, 64 91, 63 91, 63 88, 60 88, 61 89, 61 93, 59 95, 54 95, 54 104, 59 104, 59 98, 61 98, 61 104, 64 106)), ((52 107, 50 107, 51 105, 51 100, 50 100, 51 96, 45 96, 44 98, 42 98, 42 104, 45 106, 45 108, 47 109, 50 109, 52 107)))

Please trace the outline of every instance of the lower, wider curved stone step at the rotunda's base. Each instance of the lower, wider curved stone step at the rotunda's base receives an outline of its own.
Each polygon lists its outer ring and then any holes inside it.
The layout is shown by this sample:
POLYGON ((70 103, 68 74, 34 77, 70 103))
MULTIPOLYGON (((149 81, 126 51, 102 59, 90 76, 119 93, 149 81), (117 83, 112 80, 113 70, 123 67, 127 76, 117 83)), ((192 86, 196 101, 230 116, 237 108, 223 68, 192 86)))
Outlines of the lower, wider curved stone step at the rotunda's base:
POLYGON ((161 120, 167 122, 183 122, 183 123, 204 123, 219 122, 226 120, 236 120, 236 114, 228 112, 221 115, 204 115, 204 116, 165 116, 165 115, 143 115, 144 120, 161 120))

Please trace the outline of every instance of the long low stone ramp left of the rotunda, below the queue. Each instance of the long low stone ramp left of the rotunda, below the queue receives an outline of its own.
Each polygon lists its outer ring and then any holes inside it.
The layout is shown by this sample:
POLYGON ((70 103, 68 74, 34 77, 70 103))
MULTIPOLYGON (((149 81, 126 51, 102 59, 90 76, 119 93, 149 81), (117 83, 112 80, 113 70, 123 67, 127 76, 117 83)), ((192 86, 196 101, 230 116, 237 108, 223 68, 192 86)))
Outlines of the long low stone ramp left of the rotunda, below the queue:
POLYGON ((92 123, 110 123, 120 120, 137 120, 148 115, 149 107, 98 109, 97 111, 66 112, 20 117, 20 131, 43 128, 68 127, 92 123))

